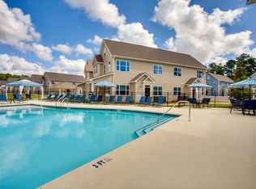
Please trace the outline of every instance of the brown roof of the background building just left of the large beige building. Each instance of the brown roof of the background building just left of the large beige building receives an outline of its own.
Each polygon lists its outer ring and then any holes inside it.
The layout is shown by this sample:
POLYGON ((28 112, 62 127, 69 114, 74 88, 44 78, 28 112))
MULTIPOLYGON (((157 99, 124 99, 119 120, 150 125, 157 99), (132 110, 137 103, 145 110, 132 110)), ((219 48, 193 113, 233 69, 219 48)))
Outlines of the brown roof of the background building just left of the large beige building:
POLYGON ((67 73, 45 72, 44 77, 58 82, 83 82, 85 80, 82 75, 73 75, 67 73))

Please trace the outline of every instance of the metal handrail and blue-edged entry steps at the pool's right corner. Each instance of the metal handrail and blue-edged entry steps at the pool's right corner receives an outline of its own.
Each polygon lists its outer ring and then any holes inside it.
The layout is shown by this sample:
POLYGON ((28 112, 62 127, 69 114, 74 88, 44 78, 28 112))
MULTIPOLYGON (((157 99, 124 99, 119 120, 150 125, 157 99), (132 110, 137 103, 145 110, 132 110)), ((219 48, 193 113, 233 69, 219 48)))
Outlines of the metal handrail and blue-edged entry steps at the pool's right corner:
MULTIPOLYGON (((191 120, 190 119, 190 116, 191 116, 191 104, 190 104, 190 102, 186 101, 186 100, 180 100, 177 103, 175 103, 173 105, 173 107, 176 107, 179 103, 189 103, 189 106, 190 106, 189 107, 189 121, 190 121, 191 120)), ((154 121, 153 123, 147 124, 145 127, 139 128, 138 130, 134 131, 134 134, 138 137, 143 136, 144 134, 147 134, 148 132, 153 131, 155 128, 157 128, 161 124, 164 124, 167 121, 169 121, 170 119, 169 118, 164 118, 164 115, 166 115, 170 110, 172 110, 173 107, 170 107, 167 111, 165 111, 162 115, 160 115, 160 117, 156 121, 154 121)))

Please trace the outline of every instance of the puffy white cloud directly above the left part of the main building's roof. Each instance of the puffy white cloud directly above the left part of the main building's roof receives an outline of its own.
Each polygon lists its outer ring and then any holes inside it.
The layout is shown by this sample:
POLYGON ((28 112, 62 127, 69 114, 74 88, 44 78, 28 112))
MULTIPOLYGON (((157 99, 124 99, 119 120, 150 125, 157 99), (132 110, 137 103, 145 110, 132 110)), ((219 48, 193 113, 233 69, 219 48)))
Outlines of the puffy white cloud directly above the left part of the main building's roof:
POLYGON ((117 39, 131 44, 142 44, 157 48, 154 34, 143 28, 141 23, 127 23, 118 27, 117 39))

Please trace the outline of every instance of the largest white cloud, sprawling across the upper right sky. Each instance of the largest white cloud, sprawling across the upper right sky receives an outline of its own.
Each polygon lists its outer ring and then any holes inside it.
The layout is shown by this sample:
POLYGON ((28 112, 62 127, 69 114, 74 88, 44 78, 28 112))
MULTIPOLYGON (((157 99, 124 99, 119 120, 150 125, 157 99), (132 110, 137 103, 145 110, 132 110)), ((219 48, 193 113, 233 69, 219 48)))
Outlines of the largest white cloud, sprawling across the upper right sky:
POLYGON ((239 19, 244 8, 229 11, 217 8, 209 14, 202 6, 190 6, 190 2, 160 0, 155 7, 151 20, 176 31, 175 38, 165 42, 169 50, 189 53, 204 63, 228 53, 239 55, 250 50, 254 43, 250 39, 251 31, 227 34, 223 26, 239 19))

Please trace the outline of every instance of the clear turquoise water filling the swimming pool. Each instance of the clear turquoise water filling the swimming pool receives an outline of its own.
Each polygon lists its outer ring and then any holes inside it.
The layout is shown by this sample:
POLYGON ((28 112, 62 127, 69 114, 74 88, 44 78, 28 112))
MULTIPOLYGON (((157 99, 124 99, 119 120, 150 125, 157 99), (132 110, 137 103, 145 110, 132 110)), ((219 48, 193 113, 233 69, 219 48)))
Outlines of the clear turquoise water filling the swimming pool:
POLYGON ((30 106, 0 111, 0 188, 40 187, 133 141, 136 129, 159 116, 30 106))

